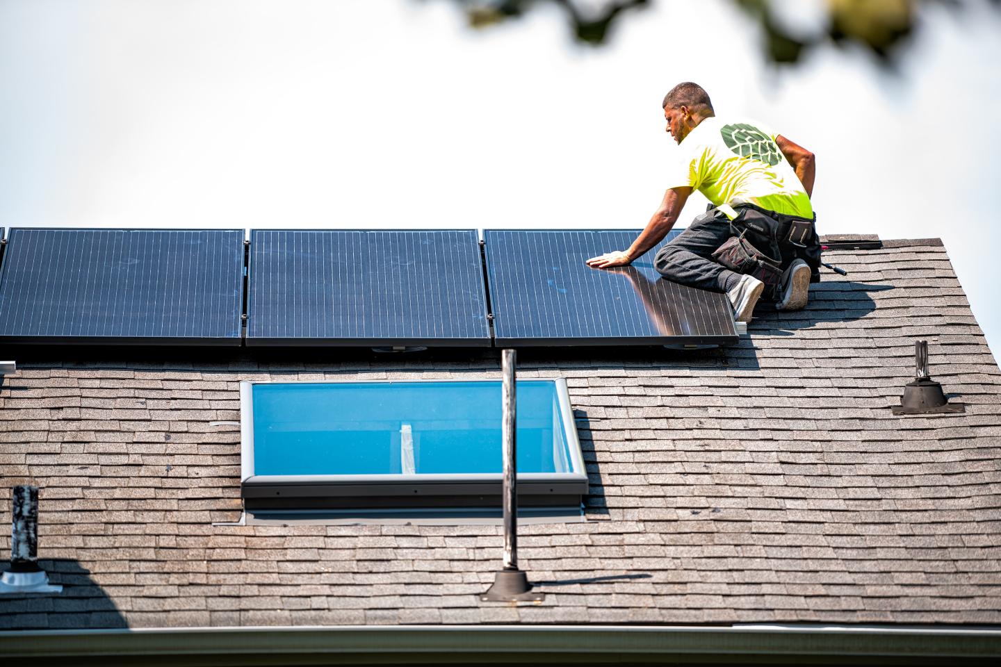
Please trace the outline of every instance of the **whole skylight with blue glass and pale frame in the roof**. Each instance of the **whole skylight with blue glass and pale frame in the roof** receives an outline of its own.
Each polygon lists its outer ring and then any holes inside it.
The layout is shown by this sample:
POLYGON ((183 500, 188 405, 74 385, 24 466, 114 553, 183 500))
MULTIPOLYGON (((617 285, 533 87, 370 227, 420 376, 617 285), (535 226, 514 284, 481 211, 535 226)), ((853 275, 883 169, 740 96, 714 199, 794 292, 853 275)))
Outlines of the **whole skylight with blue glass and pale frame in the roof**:
MULTIPOLYGON (((500 382, 240 387, 247 509, 494 507, 500 382)), ((520 505, 577 506, 588 477, 563 379, 518 383, 520 505)))

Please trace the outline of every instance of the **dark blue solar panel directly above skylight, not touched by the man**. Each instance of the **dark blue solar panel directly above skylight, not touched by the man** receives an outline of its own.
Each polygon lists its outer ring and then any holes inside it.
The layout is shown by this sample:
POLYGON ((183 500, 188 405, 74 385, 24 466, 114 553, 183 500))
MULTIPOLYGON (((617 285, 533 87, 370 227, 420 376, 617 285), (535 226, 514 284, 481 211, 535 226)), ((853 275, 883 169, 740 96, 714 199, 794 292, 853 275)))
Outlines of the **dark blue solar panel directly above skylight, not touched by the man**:
POLYGON ((476 233, 254 230, 247 345, 489 346, 476 233))

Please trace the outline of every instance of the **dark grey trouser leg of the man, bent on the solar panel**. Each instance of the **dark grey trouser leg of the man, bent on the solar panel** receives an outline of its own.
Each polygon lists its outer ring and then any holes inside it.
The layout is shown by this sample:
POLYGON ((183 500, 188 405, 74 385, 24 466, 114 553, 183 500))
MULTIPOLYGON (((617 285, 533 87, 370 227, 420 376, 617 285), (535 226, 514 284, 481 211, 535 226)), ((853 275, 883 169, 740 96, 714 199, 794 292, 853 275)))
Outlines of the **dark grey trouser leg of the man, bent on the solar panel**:
POLYGON ((710 209, 658 251, 654 267, 672 282, 726 292, 729 277, 740 275, 710 257, 732 235, 727 216, 719 209, 710 209))

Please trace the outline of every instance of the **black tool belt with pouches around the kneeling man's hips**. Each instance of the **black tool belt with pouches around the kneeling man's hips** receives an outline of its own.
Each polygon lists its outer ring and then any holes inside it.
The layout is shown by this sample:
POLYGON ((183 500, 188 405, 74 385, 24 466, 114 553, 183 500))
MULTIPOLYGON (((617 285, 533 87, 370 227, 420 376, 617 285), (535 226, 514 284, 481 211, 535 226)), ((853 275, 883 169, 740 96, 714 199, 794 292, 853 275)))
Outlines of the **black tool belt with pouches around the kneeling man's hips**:
POLYGON ((810 267, 810 282, 820 281, 821 247, 816 215, 813 219, 800 218, 744 203, 733 208, 737 213, 730 221, 733 237, 713 253, 716 261, 764 282, 767 298, 779 298, 782 271, 796 259, 802 259, 810 267), (741 268, 734 268, 731 263, 741 268), (778 271, 777 279, 773 269, 778 271))

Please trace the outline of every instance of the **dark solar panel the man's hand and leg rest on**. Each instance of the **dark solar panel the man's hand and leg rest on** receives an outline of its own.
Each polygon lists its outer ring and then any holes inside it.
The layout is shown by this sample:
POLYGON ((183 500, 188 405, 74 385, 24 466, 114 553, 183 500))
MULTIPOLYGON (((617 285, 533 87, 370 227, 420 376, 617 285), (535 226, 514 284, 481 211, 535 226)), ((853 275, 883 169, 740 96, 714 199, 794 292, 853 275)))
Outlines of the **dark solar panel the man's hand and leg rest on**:
POLYGON ((485 231, 497 347, 736 343, 726 295, 663 280, 656 248, 629 267, 585 263, 628 248, 637 233, 485 231))

